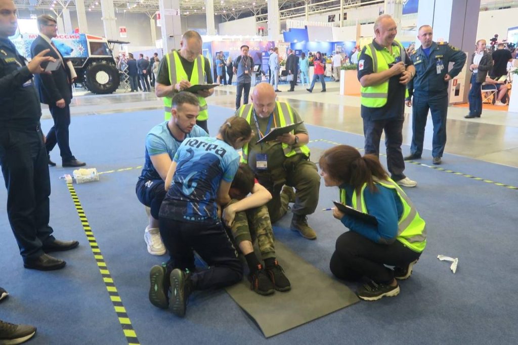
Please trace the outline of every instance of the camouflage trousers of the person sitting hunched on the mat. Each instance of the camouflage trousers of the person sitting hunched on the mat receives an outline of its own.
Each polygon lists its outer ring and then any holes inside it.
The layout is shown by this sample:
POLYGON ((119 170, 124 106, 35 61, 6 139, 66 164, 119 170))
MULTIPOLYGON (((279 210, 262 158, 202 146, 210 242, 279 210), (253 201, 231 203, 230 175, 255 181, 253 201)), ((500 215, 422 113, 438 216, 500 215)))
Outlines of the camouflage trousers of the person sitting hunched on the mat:
MULTIPOLYGON (((237 202, 238 200, 233 199, 231 204, 237 202)), ((254 243, 257 240, 262 260, 275 257, 274 229, 271 227, 266 205, 237 212, 230 230, 236 247, 239 247, 242 241, 254 243)))

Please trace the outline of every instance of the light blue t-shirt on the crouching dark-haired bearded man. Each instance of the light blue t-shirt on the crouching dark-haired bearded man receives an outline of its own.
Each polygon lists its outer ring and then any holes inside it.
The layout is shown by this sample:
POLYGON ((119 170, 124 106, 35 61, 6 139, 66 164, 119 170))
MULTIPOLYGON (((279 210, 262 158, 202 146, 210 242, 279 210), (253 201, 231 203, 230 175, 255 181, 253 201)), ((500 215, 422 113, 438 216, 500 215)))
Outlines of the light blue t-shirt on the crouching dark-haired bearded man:
MULTIPOLYGON (((151 131, 149 131, 146 136, 146 162, 142 168, 142 172, 139 177, 140 180, 161 180, 162 178, 153 166, 150 157, 156 154, 167 153, 172 161, 176 150, 178 150, 178 147, 182 143, 181 140, 176 139, 172 135, 171 131, 169 131, 167 122, 168 121, 164 121, 161 124, 157 124, 151 128, 151 131)), ((191 133, 186 135, 186 138, 208 136, 209 134, 205 132, 202 127, 195 125, 191 133)))

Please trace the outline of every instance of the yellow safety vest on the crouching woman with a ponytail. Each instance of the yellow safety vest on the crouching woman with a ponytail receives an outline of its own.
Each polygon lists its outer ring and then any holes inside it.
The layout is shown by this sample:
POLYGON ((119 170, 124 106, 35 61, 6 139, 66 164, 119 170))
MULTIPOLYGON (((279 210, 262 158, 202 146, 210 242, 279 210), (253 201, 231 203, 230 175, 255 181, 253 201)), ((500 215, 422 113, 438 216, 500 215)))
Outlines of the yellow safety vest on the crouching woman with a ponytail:
MULTIPOLYGON (((421 253, 426 247, 426 226, 424 220, 419 216, 418 211, 410 201, 410 198, 392 179, 379 180, 375 178, 374 180, 377 184, 396 190, 403 205, 403 214, 397 224, 396 239, 413 251, 421 253)), ((352 195, 352 207, 363 213, 368 213, 363 197, 366 187, 367 183, 362 186, 362 190, 359 194, 354 190, 352 195)), ((344 189, 340 189, 340 202, 344 205, 346 204, 346 190, 344 189)))

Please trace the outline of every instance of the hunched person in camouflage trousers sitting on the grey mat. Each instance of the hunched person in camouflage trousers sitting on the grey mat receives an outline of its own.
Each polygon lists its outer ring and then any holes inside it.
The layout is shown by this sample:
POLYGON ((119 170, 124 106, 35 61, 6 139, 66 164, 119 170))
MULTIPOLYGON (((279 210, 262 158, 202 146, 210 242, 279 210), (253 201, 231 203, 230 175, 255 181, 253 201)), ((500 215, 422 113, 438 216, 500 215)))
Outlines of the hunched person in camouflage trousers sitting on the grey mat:
POLYGON ((232 201, 223 210, 222 220, 231 229, 237 246, 247 260, 251 290, 260 295, 270 295, 275 290, 289 291, 290 281, 275 257, 274 229, 266 207, 266 203, 271 200, 270 192, 257 182, 247 164, 240 164, 229 195, 232 201), (255 255, 252 245, 255 239, 264 266, 255 255))

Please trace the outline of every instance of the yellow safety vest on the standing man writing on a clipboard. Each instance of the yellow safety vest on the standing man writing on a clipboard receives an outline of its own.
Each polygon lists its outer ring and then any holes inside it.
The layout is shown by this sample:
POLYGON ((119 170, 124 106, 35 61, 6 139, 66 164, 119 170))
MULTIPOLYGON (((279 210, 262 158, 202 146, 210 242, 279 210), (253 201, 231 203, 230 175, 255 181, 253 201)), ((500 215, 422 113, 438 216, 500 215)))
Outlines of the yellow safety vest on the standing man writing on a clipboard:
MULTIPOLYGON (((180 61, 180 55, 176 50, 165 55, 167 59, 167 66, 169 67, 169 82, 171 85, 175 85, 182 80, 189 80, 185 70, 183 69, 182 62, 180 61), (172 59, 171 59, 172 57, 172 59)), ((205 84, 205 59, 203 55, 196 57, 196 66, 193 68, 191 80, 192 85, 203 85, 205 84)), ((205 121, 209 118, 209 112, 207 110, 207 101, 204 97, 199 97, 199 115, 196 118, 198 121, 205 121)), ((169 120, 171 118, 171 107, 172 97, 164 97, 164 118, 169 120)))

